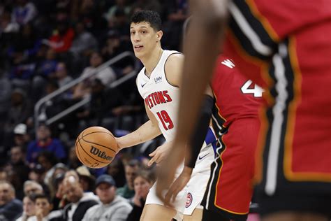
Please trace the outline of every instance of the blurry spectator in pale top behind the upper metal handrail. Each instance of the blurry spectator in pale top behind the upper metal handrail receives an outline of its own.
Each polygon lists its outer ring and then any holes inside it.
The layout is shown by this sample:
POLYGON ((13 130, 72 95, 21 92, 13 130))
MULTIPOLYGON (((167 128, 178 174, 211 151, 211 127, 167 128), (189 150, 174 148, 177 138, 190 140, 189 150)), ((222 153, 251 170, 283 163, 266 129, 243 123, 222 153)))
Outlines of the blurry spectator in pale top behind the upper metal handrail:
MULTIPOLYGON (((101 56, 100 52, 93 52, 91 54, 91 57, 89 58, 89 64, 90 66, 84 69, 82 76, 89 76, 91 73, 94 73, 96 71, 96 68, 98 66, 103 64, 103 57, 101 56)), ((78 84, 75 87, 73 97, 75 99, 82 99, 83 97, 90 94, 91 83, 96 78, 101 80, 103 85, 109 85, 116 80, 116 75, 110 66, 106 67, 102 71, 99 71, 96 75, 92 76, 91 78, 87 78, 82 83, 78 84)))

